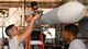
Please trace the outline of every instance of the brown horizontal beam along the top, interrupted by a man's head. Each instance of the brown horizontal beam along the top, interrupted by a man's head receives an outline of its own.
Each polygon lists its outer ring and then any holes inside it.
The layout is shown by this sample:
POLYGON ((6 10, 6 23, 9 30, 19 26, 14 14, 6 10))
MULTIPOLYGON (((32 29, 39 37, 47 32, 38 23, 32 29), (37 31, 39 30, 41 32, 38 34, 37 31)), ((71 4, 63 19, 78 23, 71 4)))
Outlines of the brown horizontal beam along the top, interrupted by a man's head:
MULTIPOLYGON (((25 5, 30 5, 31 1, 0 1, 0 5, 1 7, 22 7, 22 3, 25 3, 25 5)), ((37 4, 40 5, 40 8, 57 8, 61 4, 63 4, 63 2, 37 2, 37 4)))

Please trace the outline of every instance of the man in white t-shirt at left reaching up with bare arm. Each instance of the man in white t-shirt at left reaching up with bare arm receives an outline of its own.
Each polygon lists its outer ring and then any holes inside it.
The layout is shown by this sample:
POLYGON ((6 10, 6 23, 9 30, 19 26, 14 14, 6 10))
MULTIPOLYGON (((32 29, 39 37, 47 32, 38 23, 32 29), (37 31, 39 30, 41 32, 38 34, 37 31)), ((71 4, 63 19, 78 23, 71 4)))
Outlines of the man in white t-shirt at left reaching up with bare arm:
POLYGON ((18 28, 14 25, 9 25, 6 28, 6 34, 10 37, 10 41, 9 41, 10 49, 24 49, 22 41, 26 39, 29 35, 32 33, 34 23, 38 19, 40 19, 38 14, 33 16, 28 23, 28 26, 23 34, 20 34, 18 28))

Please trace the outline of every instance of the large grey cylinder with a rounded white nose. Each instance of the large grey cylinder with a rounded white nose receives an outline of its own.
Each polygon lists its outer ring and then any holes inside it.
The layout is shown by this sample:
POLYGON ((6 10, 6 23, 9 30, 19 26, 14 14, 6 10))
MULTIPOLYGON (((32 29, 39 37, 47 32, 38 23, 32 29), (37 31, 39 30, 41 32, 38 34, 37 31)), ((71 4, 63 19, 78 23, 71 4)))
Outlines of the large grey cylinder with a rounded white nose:
POLYGON ((85 5, 79 2, 67 2, 41 16, 41 23, 75 23, 84 17, 85 5))

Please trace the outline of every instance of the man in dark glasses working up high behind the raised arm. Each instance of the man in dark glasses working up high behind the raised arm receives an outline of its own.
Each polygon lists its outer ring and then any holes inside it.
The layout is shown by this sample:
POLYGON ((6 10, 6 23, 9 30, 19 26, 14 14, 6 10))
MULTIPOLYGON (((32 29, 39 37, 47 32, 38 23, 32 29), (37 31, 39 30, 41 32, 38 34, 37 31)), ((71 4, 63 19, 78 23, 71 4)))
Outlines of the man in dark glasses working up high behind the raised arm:
POLYGON ((25 21, 26 23, 30 21, 31 17, 29 16, 34 16, 36 14, 36 11, 38 9, 38 5, 36 2, 31 2, 31 9, 29 8, 29 5, 26 5, 26 9, 25 9, 25 21))

